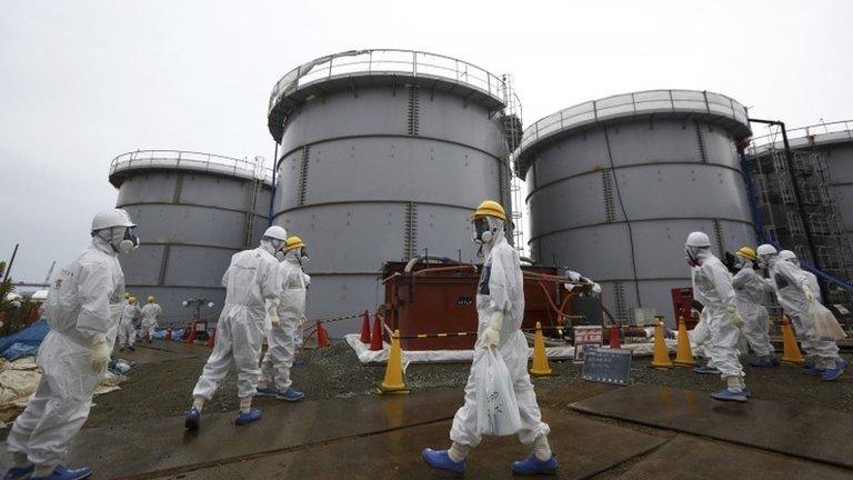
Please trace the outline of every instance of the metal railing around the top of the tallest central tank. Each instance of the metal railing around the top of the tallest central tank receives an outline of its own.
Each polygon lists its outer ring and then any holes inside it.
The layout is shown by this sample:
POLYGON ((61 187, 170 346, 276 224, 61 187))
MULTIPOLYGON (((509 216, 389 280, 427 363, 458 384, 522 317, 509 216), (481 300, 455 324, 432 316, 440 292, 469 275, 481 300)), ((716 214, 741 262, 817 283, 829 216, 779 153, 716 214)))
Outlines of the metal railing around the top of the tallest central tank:
POLYGON ((503 80, 473 63, 414 50, 375 49, 335 53, 297 67, 273 87, 269 111, 272 111, 282 97, 311 83, 338 77, 382 73, 441 78, 480 90, 506 103, 503 80))

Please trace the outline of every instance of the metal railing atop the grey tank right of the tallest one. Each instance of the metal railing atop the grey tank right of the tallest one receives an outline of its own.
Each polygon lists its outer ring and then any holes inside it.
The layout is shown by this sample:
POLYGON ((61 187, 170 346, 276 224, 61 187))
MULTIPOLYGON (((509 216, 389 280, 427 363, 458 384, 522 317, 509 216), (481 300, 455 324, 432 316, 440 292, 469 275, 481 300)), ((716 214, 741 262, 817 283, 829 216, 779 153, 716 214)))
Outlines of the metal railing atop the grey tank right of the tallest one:
POLYGON ((668 111, 706 112, 749 126, 746 108, 726 96, 696 90, 648 90, 593 100, 552 113, 524 129, 519 151, 573 127, 616 117, 668 111))

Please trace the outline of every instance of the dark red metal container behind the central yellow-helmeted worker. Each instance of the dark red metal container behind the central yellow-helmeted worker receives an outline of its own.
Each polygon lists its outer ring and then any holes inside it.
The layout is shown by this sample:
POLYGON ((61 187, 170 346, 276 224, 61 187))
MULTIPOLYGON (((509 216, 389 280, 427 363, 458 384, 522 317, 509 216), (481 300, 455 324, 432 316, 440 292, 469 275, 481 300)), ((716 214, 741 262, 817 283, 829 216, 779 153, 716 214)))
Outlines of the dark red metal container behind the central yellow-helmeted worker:
MULTIPOLYGON (((556 276, 549 267, 522 267, 524 271, 556 276)), ((415 263, 405 272, 404 262, 387 262, 385 321, 402 337, 417 334, 476 332, 476 283, 480 266, 468 263, 415 263)), ((560 307, 565 289, 560 283, 524 280, 524 322, 556 326, 556 312, 549 299, 560 307)), ((475 334, 403 339, 403 350, 463 350, 474 346, 475 334)))

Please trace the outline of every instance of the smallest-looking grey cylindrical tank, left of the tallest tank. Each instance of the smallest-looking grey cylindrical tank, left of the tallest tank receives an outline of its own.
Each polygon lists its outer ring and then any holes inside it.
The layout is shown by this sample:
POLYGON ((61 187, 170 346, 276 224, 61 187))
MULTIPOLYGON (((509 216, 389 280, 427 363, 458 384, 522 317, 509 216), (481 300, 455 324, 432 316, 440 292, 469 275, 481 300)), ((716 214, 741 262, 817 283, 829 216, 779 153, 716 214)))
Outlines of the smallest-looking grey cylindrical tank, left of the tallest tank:
POLYGON ((185 324, 192 312, 182 302, 190 299, 212 301, 202 317, 217 319, 231 256, 254 247, 268 226, 272 189, 263 177, 254 160, 188 151, 134 151, 112 161, 116 206, 142 240, 119 257, 127 289, 141 303, 157 298, 161 324, 185 324))

